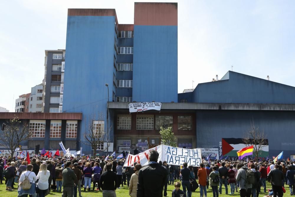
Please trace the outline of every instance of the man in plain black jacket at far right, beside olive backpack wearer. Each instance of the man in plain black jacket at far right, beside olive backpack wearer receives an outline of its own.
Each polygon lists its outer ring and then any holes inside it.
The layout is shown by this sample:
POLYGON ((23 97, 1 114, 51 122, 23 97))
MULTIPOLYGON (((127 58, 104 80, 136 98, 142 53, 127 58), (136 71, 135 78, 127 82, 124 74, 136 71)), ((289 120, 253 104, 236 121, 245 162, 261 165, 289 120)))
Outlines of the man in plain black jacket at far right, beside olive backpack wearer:
POLYGON ((268 175, 267 175, 267 180, 268 182, 271 182, 271 186, 273 189, 273 197, 279 196, 282 197, 283 196, 283 190, 282 190, 282 186, 283 186, 283 182, 282 180, 284 180, 284 174, 281 170, 279 170, 279 165, 275 165, 275 169, 271 170, 268 175))

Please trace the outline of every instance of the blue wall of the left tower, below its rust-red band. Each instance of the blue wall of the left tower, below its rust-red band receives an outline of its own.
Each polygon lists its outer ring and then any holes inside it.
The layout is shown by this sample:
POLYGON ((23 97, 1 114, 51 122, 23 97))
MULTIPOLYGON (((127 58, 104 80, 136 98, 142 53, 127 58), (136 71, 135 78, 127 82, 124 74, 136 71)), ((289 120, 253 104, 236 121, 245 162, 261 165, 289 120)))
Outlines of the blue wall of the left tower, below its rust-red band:
MULTIPOLYGON (((106 128, 108 95, 105 84, 109 84, 109 101, 112 101, 113 91, 116 93, 113 85, 113 74, 116 74, 114 39, 117 38, 114 24, 114 16, 68 16, 63 111, 83 113, 80 144, 83 152, 89 154, 91 147, 83 144, 82 137, 89 115, 102 113, 106 128)), ((109 121, 109 128, 111 124, 109 121)))

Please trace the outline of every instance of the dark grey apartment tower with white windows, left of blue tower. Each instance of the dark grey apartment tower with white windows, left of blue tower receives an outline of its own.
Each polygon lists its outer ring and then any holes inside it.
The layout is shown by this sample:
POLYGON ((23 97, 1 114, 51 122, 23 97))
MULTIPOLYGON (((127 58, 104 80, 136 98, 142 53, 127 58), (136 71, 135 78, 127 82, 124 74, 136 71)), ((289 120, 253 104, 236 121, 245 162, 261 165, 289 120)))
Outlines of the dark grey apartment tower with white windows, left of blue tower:
POLYGON ((65 50, 45 50, 42 112, 63 112, 65 50))

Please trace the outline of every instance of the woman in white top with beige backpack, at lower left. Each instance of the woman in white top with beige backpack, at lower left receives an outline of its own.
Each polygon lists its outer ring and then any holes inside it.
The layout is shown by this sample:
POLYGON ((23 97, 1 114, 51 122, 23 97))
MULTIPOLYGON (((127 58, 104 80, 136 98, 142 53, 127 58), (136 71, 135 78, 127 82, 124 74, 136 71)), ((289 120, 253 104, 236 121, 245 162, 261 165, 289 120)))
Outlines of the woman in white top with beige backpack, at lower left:
POLYGON ((27 170, 20 175, 19 178, 19 194, 18 196, 33 197, 34 193, 36 192, 36 185, 35 181, 37 181, 37 177, 33 170, 33 165, 27 165, 27 170))

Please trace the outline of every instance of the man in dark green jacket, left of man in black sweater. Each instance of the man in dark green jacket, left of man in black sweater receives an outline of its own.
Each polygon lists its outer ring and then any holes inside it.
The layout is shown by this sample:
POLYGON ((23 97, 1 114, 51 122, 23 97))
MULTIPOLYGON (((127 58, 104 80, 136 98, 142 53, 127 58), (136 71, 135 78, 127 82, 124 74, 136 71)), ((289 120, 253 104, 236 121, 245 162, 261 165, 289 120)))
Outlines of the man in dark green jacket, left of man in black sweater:
POLYGON ((77 176, 71 169, 73 164, 71 161, 65 163, 65 169, 63 170, 63 194, 62 197, 72 197, 74 195, 74 186, 77 176))

